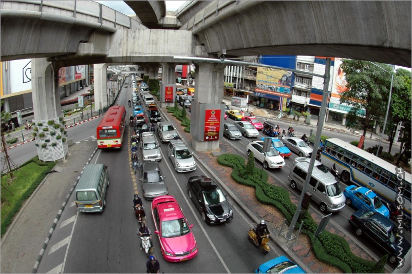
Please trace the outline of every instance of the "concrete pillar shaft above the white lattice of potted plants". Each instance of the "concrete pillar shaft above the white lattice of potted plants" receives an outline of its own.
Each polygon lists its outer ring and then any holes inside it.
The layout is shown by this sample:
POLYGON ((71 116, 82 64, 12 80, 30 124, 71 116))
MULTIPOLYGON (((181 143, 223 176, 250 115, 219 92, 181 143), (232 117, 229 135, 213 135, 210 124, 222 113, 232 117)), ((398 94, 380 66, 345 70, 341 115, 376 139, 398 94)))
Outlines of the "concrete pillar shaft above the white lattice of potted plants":
POLYGON ((60 94, 58 93, 58 70, 46 58, 34 58, 32 69, 32 98, 34 120, 49 120, 61 114, 60 94))

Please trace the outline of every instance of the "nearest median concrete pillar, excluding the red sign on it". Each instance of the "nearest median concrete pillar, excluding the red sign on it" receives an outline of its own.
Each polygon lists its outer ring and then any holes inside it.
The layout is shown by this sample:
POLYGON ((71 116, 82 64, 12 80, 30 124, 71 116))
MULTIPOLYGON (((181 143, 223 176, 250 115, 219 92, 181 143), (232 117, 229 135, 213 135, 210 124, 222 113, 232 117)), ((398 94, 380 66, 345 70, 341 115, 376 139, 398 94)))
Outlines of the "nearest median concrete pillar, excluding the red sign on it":
POLYGON ((220 109, 219 140, 223 137, 224 104, 223 72, 224 64, 200 63, 196 66, 195 97, 192 101, 191 134, 192 146, 196 151, 211 151, 219 148, 219 141, 204 140, 205 113, 209 109, 220 109))

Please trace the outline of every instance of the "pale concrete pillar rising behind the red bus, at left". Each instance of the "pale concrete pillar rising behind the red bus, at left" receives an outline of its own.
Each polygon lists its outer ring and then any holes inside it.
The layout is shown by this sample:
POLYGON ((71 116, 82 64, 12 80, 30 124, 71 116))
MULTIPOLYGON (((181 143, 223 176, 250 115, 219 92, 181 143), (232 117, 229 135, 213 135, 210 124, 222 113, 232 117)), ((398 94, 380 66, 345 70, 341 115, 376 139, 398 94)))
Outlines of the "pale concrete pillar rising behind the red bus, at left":
POLYGON ((95 87, 95 111, 108 106, 107 100, 107 64, 93 65, 95 87))

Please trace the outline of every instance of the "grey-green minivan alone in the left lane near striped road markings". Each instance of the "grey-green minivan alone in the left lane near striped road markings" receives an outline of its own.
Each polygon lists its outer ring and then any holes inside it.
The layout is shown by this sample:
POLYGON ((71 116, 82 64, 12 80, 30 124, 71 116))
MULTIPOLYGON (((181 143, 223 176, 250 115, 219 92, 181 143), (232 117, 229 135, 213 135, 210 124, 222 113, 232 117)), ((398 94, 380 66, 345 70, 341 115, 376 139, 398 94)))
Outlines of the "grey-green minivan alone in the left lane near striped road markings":
POLYGON ((106 189, 109 187, 107 166, 88 164, 84 167, 74 197, 80 212, 102 212, 106 207, 106 189))

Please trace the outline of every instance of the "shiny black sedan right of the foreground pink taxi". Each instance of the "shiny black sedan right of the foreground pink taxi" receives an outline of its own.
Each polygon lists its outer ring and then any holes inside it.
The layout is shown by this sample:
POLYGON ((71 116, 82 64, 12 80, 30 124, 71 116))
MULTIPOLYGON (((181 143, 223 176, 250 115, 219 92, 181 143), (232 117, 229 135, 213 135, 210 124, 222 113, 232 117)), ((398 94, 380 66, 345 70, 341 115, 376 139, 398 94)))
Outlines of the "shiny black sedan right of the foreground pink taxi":
POLYGON ((226 194, 212 179, 203 175, 189 178, 188 192, 207 224, 221 224, 233 219, 233 209, 226 194))

